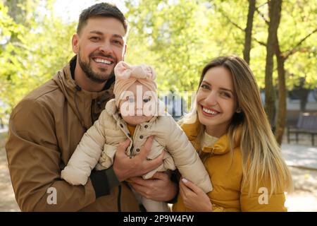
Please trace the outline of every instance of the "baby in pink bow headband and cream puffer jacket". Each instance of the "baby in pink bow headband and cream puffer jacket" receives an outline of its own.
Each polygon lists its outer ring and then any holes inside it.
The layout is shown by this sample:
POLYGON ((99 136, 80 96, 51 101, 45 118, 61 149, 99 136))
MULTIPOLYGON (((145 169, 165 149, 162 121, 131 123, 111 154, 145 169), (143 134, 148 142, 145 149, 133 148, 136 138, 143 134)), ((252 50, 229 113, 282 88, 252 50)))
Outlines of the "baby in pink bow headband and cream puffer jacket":
MULTIPOLYGON (((130 66, 120 61, 114 69, 116 83, 115 99, 109 100, 106 108, 94 125, 82 136, 61 178, 73 185, 85 185, 94 167, 107 169, 119 143, 130 139, 126 154, 139 154, 149 136, 154 136, 148 159, 158 157, 167 150, 163 164, 147 174, 178 168, 182 177, 197 184, 204 192, 212 191, 209 174, 186 134, 170 114, 164 112, 163 103, 156 94, 155 73, 151 66, 130 66)), ((136 194, 136 193, 135 193, 136 194)), ((149 212, 169 211, 166 203, 153 201, 136 194, 149 212)))

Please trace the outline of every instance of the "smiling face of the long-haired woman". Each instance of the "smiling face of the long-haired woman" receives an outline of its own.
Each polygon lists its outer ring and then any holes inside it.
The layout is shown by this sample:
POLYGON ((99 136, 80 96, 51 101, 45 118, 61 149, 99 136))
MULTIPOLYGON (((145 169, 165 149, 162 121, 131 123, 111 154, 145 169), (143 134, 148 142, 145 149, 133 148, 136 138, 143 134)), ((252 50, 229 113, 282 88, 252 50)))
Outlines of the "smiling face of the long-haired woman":
POLYGON ((206 132, 220 137, 226 133, 237 108, 232 75, 223 66, 209 69, 197 92, 197 114, 206 132))

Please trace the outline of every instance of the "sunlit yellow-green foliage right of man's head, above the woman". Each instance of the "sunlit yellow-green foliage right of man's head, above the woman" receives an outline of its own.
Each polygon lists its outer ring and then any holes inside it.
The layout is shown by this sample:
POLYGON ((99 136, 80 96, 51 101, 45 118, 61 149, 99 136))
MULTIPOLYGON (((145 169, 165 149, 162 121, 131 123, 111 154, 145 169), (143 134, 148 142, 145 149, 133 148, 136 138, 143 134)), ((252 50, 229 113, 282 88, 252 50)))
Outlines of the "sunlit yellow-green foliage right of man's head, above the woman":
MULTIPOLYGON (((163 90, 196 90, 199 73, 210 59, 237 54, 242 57, 247 1, 126 1, 131 25, 128 60, 152 64, 163 90)), ((251 49, 251 69, 264 88, 268 26, 266 1, 256 1, 251 49), (263 17, 262 17, 262 16, 263 17)), ((316 29, 317 4, 308 0, 283 1, 278 35, 282 52, 296 49, 309 32, 316 29)), ((307 86, 316 87, 316 43, 314 33, 290 55, 286 64, 287 87, 306 77, 307 86)), ((277 81, 276 64, 273 78, 277 81)))

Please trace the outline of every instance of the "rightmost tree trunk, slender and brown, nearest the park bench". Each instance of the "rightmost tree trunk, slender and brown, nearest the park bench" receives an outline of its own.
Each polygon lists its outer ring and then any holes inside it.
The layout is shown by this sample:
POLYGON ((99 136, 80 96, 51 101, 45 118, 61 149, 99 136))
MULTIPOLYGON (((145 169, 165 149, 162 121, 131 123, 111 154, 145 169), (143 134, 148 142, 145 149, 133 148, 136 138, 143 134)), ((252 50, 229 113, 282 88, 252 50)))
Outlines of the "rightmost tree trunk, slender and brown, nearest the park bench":
POLYGON ((285 57, 280 52, 280 44, 278 42, 278 36, 276 36, 275 55, 278 61, 278 119, 276 123, 275 138, 278 144, 282 144, 282 138, 286 125, 287 117, 287 92, 285 82, 285 57))

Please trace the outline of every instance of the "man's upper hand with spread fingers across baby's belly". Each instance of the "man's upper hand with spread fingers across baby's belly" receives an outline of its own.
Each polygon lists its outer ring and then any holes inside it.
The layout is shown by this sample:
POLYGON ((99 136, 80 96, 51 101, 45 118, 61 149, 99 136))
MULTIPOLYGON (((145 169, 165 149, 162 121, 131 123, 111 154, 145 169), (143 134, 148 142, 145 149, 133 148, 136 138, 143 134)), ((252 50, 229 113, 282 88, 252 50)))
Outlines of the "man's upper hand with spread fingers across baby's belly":
POLYGON ((130 141, 127 139, 118 145, 115 158, 113 160, 113 170, 119 182, 123 182, 130 177, 138 177, 147 174, 153 169, 156 169, 163 163, 164 152, 161 153, 154 160, 147 160, 147 155, 151 150, 153 137, 150 136, 145 141, 141 148, 139 155, 130 158, 126 155, 125 150, 128 148, 130 141))

